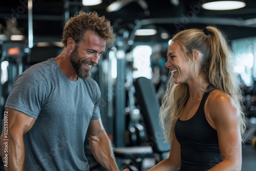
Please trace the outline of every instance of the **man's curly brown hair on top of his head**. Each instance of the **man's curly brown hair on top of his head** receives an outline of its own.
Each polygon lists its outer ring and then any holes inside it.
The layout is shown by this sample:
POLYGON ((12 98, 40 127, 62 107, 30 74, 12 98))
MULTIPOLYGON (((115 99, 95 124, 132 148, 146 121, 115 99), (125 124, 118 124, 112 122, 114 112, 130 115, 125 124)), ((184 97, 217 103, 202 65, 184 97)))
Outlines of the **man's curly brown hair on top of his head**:
POLYGON ((71 17, 66 23, 62 33, 62 43, 67 46, 67 39, 72 37, 76 44, 82 40, 82 36, 88 30, 95 31, 106 40, 106 46, 110 47, 115 41, 115 33, 110 20, 104 16, 99 16, 97 12, 80 11, 78 15, 71 17))

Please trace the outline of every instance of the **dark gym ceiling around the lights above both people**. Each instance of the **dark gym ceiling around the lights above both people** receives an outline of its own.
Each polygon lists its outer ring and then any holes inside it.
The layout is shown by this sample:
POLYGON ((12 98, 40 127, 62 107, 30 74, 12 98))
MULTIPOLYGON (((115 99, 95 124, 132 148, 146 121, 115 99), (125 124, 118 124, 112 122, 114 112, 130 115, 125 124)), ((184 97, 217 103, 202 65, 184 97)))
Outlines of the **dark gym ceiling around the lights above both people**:
MULTIPOLYGON (((15 18, 18 31, 28 36, 28 0, 1 1, 1 32, 7 30, 6 21, 15 18)), ((97 6, 84 7, 81 0, 33 0, 34 42, 59 41, 62 28, 69 16, 80 10, 96 11, 105 15, 114 25, 116 34, 133 39, 134 42, 161 42, 160 36, 133 37, 133 30, 154 24, 158 33, 173 35, 179 30, 196 27, 202 29, 215 25, 228 34, 229 39, 256 36, 256 1, 247 0, 246 7, 238 10, 210 11, 201 7, 204 0, 117 0, 125 5, 115 12, 106 12, 114 0, 97 6), (172 2, 178 2, 174 5, 172 2), (144 5, 144 6, 143 6, 144 5)))

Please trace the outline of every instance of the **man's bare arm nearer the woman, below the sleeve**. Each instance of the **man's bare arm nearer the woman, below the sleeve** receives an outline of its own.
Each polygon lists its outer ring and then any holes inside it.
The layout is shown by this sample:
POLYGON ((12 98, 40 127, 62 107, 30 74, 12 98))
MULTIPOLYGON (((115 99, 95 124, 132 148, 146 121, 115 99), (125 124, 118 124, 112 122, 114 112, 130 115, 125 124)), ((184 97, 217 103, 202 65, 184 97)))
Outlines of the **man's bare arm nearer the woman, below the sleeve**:
POLYGON ((119 170, 101 119, 90 121, 87 136, 95 159, 108 170, 119 170))

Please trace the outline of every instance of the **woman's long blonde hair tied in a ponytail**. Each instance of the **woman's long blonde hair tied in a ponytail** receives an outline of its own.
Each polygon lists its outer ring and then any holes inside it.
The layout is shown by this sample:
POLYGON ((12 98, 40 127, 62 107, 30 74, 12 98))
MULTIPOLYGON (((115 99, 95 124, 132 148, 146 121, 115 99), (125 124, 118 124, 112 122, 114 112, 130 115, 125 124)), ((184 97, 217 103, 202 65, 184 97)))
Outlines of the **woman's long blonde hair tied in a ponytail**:
MULTIPOLYGON (((237 75, 233 72, 232 51, 225 34, 221 30, 214 26, 206 28, 208 30, 207 34, 199 29, 180 31, 173 37, 172 41, 180 45, 181 50, 192 65, 194 65, 193 51, 198 50, 203 54, 203 58, 200 61, 201 70, 199 75, 234 100, 240 111, 240 130, 242 138, 244 138, 243 96, 237 81, 237 75)), ((189 90, 186 83, 174 84, 173 77, 170 76, 166 86, 160 109, 160 120, 165 141, 169 142, 174 137, 175 123, 189 97, 189 90)))

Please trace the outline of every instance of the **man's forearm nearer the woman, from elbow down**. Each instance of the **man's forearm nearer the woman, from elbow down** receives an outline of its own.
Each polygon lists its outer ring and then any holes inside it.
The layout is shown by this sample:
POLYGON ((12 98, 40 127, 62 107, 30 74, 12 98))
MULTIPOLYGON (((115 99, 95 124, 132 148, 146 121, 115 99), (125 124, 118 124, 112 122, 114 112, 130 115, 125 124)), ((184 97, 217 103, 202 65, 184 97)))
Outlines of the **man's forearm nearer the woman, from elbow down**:
POLYGON ((112 151, 111 142, 104 131, 99 136, 89 136, 89 142, 95 159, 106 169, 119 170, 112 151))

